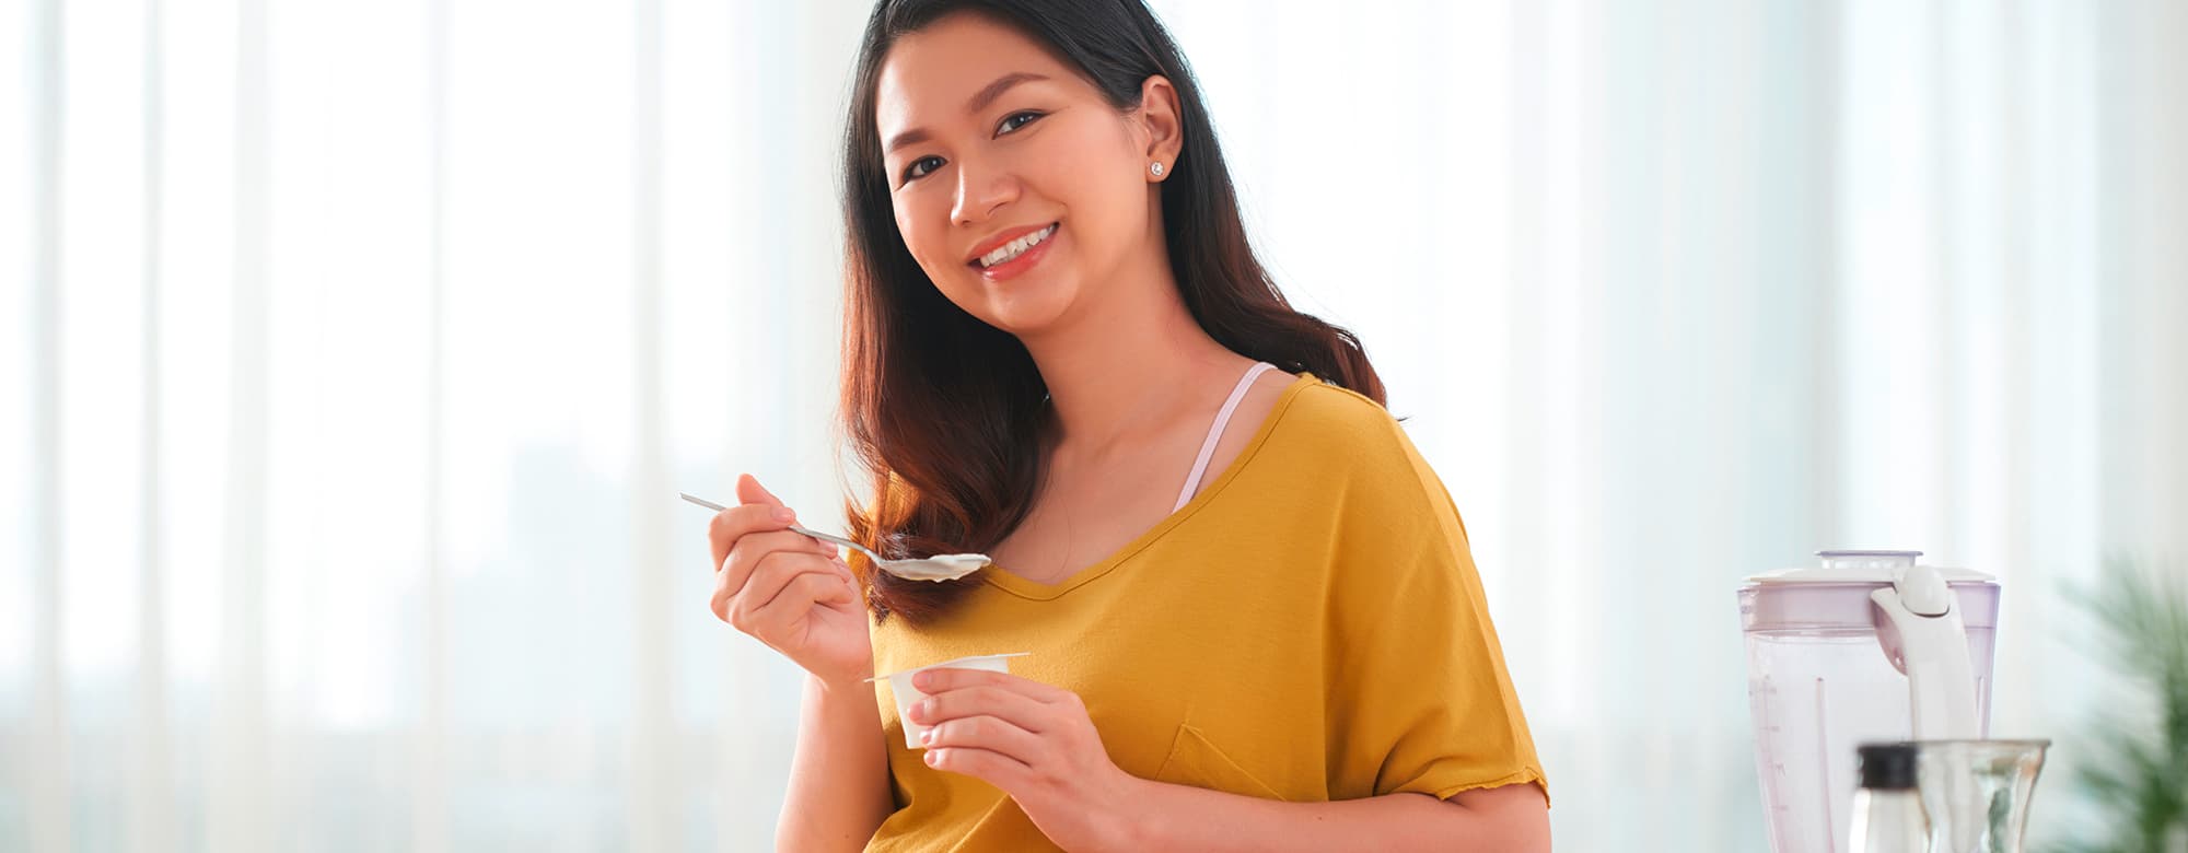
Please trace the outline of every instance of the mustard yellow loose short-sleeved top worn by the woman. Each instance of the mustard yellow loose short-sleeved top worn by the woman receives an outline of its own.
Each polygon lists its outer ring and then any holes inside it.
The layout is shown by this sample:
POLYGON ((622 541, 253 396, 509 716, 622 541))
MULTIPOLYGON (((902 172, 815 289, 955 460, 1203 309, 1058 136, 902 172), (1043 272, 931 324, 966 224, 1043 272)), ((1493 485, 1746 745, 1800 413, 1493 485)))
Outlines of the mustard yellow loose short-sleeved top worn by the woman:
MULTIPOLYGON (((1300 374, 1160 525, 1061 584, 982 569, 875 671, 1033 652, 1133 776, 1282 801, 1543 783, 1466 525, 1374 400, 1300 374)), ((869 851, 1055 849, 1002 790, 928 768, 877 687, 897 811, 869 851)))

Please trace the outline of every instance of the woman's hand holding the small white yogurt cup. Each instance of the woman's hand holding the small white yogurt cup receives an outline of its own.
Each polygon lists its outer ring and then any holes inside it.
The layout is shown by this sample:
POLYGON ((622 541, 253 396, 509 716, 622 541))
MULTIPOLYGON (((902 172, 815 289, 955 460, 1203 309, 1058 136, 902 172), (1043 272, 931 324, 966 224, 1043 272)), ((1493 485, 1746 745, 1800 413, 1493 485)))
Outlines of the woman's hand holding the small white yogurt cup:
POLYGON ((985 669, 912 676, 928 698, 912 722, 928 726, 928 766, 963 772, 1011 794, 1066 851, 1127 846, 1129 801, 1142 781, 1101 746, 1079 693, 985 669))

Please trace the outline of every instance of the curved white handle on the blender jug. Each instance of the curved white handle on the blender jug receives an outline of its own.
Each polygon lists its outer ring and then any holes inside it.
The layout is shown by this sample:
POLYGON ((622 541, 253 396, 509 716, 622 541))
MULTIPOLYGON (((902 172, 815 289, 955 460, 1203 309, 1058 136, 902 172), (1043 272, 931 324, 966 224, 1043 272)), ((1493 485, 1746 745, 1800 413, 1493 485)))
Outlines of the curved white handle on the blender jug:
POLYGON ((1960 606, 1934 566, 1908 566, 1890 588, 1869 593, 1899 630, 1915 739, 1978 739, 1976 667, 1960 606))

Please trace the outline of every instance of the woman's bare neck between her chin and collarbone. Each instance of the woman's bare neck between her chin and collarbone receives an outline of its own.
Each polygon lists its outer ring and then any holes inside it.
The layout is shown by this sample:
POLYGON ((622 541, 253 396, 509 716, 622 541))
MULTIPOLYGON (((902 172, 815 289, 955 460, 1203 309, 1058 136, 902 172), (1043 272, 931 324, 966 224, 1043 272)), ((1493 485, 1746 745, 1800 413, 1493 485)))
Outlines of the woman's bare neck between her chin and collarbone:
POLYGON ((1206 378, 1241 370, 1245 359, 1192 322, 1168 262, 1157 260, 1138 276, 1142 284, 1116 287, 1063 328, 1024 339, 1057 409, 1059 448, 1131 446, 1206 405, 1206 378))

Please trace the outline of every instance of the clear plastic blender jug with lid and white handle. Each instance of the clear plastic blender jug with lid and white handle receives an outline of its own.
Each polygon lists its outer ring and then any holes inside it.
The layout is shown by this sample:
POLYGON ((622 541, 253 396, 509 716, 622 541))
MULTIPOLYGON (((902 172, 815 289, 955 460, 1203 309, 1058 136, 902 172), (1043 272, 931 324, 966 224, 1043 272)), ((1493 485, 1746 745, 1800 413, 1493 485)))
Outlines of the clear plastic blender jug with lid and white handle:
POLYGON ((1816 556, 1739 588, 1774 853, 1847 851, 1858 746, 1978 739, 1991 717, 1991 575, 1921 566, 1921 551, 1816 556))

